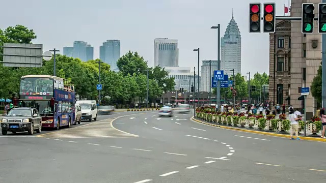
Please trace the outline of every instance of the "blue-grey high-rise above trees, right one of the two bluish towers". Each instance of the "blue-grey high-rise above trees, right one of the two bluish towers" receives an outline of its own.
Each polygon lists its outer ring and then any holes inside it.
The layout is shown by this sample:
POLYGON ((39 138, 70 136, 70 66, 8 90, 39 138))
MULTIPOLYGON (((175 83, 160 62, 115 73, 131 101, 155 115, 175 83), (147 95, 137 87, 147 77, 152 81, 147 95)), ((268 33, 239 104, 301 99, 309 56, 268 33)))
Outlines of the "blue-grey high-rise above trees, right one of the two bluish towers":
POLYGON ((119 71, 117 61, 120 58, 120 40, 106 40, 100 46, 100 59, 110 65, 112 71, 119 71))

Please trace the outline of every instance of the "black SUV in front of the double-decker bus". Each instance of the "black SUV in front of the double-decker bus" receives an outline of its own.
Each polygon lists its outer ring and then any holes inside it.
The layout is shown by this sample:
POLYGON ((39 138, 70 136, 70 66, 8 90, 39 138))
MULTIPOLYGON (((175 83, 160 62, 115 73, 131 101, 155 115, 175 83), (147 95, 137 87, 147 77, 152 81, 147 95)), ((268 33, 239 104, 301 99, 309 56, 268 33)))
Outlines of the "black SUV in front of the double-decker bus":
POLYGON ((8 132, 29 132, 33 135, 34 130, 41 133, 42 117, 36 108, 19 107, 11 109, 1 121, 1 132, 7 135, 8 132))

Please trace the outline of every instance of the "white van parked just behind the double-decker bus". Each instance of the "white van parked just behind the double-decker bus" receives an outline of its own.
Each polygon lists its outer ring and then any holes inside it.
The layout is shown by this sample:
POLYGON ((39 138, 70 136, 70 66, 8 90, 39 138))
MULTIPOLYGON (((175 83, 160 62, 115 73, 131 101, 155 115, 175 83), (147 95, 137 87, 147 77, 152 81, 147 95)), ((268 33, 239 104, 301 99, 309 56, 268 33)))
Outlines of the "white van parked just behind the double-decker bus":
POLYGON ((80 105, 82 109, 82 119, 88 119, 92 121, 97 119, 97 106, 96 101, 76 101, 76 104, 80 105))

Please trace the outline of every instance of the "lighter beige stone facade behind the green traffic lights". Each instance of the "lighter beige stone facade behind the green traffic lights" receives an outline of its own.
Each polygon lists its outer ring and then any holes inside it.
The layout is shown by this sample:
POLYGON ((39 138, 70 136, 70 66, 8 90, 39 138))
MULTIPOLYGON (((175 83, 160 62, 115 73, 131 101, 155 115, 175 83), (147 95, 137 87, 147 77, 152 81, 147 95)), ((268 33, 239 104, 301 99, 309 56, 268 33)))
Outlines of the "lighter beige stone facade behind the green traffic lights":
MULTIPOLYGON (((292 0, 291 17, 301 17, 302 3, 314 3, 315 16, 318 15, 320 0, 292 0)), ((314 21, 314 33, 302 34, 301 21, 291 21, 291 82, 290 96, 294 108, 302 110, 304 102, 301 97, 301 88, 310 87, 311 82, 321 63, 321 34, 318 34, 318 24, 314 21)), ((307 118, 314 114, 316 101, 307 96, 307 118)))

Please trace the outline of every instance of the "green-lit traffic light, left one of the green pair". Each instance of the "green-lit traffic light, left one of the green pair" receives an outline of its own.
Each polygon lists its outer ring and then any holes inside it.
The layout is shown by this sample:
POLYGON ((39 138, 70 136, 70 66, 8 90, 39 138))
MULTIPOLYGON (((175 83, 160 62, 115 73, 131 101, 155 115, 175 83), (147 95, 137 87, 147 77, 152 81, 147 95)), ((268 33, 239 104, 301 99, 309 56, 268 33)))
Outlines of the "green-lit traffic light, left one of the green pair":
POLYGON ((303 3, 302 4, 302 21, 301 21, 301 33, 311 34, 314 32, 314 4, 303 3))

